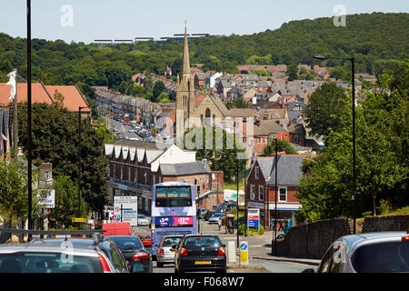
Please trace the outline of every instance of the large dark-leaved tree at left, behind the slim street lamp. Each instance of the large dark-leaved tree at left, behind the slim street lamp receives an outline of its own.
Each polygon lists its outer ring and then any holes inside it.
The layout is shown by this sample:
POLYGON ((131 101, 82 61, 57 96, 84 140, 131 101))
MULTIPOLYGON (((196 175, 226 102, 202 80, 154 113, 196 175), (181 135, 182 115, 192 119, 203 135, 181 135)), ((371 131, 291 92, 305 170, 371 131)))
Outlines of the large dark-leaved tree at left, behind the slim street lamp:
MULTIPOLYGON (((62 98, 64 99, 64 98, 62 98)), ((32 116, 33 159, 35 163, 53 164, 55 176, 78 177, 78 117, 63 108, 63 104, 34 104, 32 116)), ((23 105, 18 114, 19 144, 27 140, 27 111, 23 105)), ((95 211, 102 211, 107 196, 106 158, 103 139, 88 119, 81 120, 82 195, 95 211)))

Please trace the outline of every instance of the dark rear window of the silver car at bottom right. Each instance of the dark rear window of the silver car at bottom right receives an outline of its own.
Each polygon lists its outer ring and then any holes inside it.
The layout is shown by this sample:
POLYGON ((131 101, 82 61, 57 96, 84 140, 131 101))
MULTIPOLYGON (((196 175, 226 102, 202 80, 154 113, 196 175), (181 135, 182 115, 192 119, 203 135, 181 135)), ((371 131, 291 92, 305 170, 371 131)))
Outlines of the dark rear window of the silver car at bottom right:
POLYGON ((409 243, 360 246, 352 256, 352 264, 358 273, 409 272, 409 243))

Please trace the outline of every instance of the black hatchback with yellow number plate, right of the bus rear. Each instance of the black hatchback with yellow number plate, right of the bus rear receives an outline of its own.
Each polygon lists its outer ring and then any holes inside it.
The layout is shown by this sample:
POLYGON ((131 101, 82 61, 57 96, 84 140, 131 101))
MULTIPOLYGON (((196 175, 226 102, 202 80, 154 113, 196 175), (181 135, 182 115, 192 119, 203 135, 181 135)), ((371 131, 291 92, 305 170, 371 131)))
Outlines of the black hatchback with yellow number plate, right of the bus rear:
POLYGON ((175 252, 175 273, 226 272, 225 246, 216 235, 186 235, 175 252))

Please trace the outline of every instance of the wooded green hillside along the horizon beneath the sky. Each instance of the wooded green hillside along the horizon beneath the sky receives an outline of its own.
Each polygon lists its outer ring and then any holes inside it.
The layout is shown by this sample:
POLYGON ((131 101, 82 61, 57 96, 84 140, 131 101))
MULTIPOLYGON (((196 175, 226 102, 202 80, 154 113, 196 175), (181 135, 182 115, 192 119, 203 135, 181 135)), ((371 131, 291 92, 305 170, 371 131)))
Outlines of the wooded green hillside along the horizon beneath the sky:
MULTIPOLYGON (((253 35, 202 37, 189 41, 191 64, 204 70, 236 73, 236 65, 339 65, 349 72, 349 62, 313 60, 313 55, 355 56, 356 70, 381 75, 409 57, 409 14, 347 15, 346 26, 334 26, 332 17, 284 23, 274 31, 253 35)), ((183 44, 142 42, 100 48, 84 43, 65 44, 33 39, 33 80, 45 85, 109 85, 117 88, 136 73, 162 75, 167 66, 174 75, 181 68, 183 44)), ((25 39, 0 34, 0 73, 16 67, 26 74, 25 39)), ((1 74, 0 74, 1 75, 1 74)))

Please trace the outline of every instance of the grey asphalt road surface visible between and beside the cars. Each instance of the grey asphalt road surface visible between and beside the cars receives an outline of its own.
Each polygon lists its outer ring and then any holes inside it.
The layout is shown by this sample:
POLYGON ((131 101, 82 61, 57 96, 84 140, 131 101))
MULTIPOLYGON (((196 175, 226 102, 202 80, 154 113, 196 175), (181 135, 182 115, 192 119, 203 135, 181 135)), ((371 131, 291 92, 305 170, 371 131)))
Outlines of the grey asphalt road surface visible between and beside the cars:
MULTIPOLYGON (((237 236, 235 234, 225 234, 224 228, 222 231, 218 230, 217 225, 209 225, 205 220, 201 219, 200 225, 202 228, 202 233, 206 234, 217 234, 222 243, 227 246, 228 241, 236 242, 237 236)), ((150 234, 148 226, 137 226, 135 229, 136 235, 150 234)), ((247 241, 249 247, 249 263, 251 265, 264 266, 265 269, 272 273, 301 273, 306 268, 315 268, 315 266, 299 264, 294 262, 280 262, 271 259, 267 259, 271 252, 271 245, 266 244, 264 241, 258 239, 257 237, 251 236, 240 236, 239 242, 247 241), (265 257, 266 259, 255 259, 253 257, 265 257)), ((244 270, 245 272, 245 270, 244 270)), ((175 268, 173 264, 165 264, 164 267, 157 267, 156 262, 154 262, 154 273, 175 273, 175 268)))

